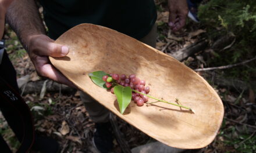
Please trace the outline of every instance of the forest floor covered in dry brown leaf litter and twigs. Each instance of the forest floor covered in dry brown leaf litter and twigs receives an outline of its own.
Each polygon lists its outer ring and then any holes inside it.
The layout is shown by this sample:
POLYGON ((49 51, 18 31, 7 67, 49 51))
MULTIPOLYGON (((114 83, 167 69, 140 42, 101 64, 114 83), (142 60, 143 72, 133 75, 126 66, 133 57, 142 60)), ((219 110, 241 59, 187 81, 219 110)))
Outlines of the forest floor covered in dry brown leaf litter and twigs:
MULTIPOLYGON (((207 28, 201 23, 187 21, 182 31, 172 33, 167 25, 168 10, 162 3, 158 5, 158 39, 157 49, 163 53, 172 54, 177 50, 205 39, 209 42, 207 48, 199 50, 182 61, 191 69, 214 67, 210 62, 215 58, 211 45, 214 42, 207 37, 207 28)), ((6 49, 17 71, 17 78, 29 76, 30 82, 44 81, 37 76, 33 64, 26 51, 20 45, 16 34, 6 27, 6 49)), ((227 46, 227 45, 226 45, 227 46)), ((223 48, 225 48, 224 46, 223 48)), ((255 61, 254 65, 256 65, 255 61)), ((247 68, 247 64, 239 65, 247 68)), ((233 67, 229 68, 232 69, 233 67)), ((227 76, 226 70, 198 72, 204 77, 222 99, 225 115, 222 127, 203 152, 256 152, 256 103, 255 90, 249 85, 255 83, 255 74, 250 81, 243 78, 227 76), (231 81, 231 83, 230 83, 231 81), (233 83, 232 83, 233 81, 233 83), (239 83, 236 83, 236 82, 239 83)), ((45 92, 40 98, 40 92, 22 94, 34 115, 35 130, 42 136, 58 140, 61 152, 94 152, 91 143, 94 123, 89 119, 86 108, 78 92, 62 93, 45 92)), ((122 119, 117 119, 119 129, 123 132, 130 148, 155 141, 140 130, 129 125, 122 119)), ((8 128, 5 119, 0 114, 0 133, 15 151, 19 146, 12 130, 8 128)), ((113 152, 121 152, 121 146, 114 141, 113 152)))

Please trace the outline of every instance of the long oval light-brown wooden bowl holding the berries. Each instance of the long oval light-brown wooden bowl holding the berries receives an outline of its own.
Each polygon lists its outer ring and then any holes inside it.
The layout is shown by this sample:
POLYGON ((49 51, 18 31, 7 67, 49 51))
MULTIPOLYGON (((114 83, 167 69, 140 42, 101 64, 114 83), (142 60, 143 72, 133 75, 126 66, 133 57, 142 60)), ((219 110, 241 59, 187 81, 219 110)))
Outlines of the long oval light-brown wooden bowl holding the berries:
MULTIPOLYGON (((140 129, 148 136, 176 148, 202 148, 211 143, 223 119, 223 104, 215 90, 186 65, 125 34, 93 24, 80 24, 56 43, 69 46, 51 63, 79 89, 140 129), (150 86, 150 95, 193 108, 195 113, 166 103, 131 101, 122 115, 114 94, 95 85, 90 72, 136 74, 150 86)), ((154 101, 154 100, 151 100, 154 101)))

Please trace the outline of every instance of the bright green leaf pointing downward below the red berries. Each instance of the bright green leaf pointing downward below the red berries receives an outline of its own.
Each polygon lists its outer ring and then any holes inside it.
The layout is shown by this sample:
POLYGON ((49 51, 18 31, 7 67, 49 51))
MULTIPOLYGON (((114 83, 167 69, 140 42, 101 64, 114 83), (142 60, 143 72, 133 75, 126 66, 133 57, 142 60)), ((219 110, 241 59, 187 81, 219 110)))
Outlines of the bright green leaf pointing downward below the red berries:
POLYGON ((115 86, 114 93, 116 94, 116 99, 118 99, 120 112, 123 114, 131 102, 131 88, 129 86, 115 86))

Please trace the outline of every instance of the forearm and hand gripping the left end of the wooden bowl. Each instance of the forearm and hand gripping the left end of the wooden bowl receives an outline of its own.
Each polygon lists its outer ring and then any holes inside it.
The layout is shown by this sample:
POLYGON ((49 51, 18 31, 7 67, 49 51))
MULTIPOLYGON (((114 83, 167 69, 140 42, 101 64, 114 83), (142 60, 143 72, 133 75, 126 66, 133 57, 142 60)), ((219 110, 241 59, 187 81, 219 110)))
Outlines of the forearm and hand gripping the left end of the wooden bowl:
POLYGON ((45 28, 35 1, 14 1, 7 11, 6 19, 29 53, 37 74, 74 87, 73 83, 56 70, 48 59, 48 56, 66 56, 69 48, 54 43, 54 40, 45 35, 45 28))

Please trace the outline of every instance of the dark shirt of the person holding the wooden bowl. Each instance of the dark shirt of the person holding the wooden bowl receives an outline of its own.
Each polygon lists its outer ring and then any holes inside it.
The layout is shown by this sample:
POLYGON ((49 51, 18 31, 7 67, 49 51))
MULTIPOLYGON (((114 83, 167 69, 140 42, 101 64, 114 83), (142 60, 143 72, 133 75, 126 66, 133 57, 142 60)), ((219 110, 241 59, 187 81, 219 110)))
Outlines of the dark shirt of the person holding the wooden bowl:
POLYGON ((102 25, 140 39, 157 19, 154 0, 40 0, 49 37, 81 23, 102 25))

